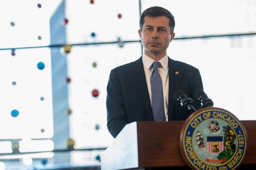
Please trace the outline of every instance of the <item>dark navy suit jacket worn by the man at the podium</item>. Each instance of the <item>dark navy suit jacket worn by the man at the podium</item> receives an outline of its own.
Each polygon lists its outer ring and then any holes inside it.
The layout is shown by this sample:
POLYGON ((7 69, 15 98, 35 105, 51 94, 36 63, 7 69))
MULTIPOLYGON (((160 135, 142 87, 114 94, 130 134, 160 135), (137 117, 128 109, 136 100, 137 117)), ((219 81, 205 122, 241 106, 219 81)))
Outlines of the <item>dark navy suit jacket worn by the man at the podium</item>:
MULTIPOLYGON (((197 68, 168 58, 169 95, 168 121, 185 120, 189 111, 182 108, 173 93, 180 89, 192 97, 196 89, 203 89, 197 68), (179 73, 176 74, 176 71, 179 73)), ((198 104, 197 106, 198 107, 198 104)), ((134 121, 153 121, 142 57, 113 69, 107 84, 107 127, 115 138, 123 127, 134 121)))

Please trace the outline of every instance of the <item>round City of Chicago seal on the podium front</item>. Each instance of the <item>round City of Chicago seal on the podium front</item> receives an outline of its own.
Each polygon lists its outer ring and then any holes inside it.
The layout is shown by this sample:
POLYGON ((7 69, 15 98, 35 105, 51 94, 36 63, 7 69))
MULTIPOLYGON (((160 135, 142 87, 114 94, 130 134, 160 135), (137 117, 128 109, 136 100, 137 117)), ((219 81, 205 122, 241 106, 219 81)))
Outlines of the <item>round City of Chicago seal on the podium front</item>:
POLYGON ((248 147, 243 124, 230 112, 205 107, 187 118, 180 134, 180 151, 197 170, 234 170, 248 147))

